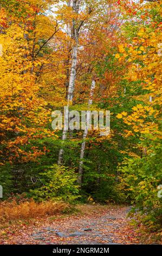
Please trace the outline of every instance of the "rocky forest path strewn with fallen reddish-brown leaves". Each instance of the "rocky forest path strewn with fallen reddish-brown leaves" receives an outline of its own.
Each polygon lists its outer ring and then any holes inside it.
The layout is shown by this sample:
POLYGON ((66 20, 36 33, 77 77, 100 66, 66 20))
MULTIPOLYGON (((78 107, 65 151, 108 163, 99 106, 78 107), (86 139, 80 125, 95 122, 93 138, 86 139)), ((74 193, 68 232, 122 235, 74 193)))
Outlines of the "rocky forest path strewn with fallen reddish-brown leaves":
MULTIPOLYGON (((139 243, 129 225, 126 206, 80 206, 82 214, 48 217, 22 224, 14 234, 0 243, 43 245, 112 245, 139 243)), ((14 228, 15 229, 15 228, 14 228)))

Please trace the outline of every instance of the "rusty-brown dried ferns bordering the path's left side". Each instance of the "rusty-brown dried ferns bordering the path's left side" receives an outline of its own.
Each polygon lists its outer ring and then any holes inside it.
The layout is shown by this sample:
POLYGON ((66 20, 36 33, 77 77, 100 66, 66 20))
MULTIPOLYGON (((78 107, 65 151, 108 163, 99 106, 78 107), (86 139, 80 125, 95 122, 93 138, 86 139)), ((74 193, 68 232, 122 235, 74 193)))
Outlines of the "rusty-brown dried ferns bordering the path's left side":
POLYGON ((0 222, 51 216, 61 213, 68 207, 67 204, 62 202, 36 203, 33 199, 21 203, 17 203, 16 200, 12 202, 4 201, 0 203, 0 222))

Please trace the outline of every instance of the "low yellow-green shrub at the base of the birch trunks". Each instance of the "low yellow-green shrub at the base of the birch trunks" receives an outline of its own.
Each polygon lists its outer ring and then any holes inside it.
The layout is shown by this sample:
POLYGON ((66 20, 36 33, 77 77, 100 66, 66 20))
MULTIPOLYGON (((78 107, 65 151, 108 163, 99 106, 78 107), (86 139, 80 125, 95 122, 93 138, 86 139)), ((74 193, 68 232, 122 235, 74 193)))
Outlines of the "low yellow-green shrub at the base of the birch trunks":
POLYGON ((30 191, 34 199, 74 203, 80 197, 77 174, 73 169, 54 164, 40 175, 43 185, 30 191))

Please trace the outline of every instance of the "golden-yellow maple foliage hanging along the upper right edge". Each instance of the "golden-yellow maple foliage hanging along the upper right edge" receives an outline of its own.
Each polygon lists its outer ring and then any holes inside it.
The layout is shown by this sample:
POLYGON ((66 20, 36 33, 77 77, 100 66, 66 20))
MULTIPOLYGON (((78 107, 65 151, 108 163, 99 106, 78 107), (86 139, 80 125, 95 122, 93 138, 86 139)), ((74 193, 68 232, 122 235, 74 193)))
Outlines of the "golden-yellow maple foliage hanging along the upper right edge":
MULTIPOLYGON (((143 1, 141 1, 143 2, 143 1)), ((148 93, 138 95, 137 99, 142 104, 133 107, 130 115, 118 114, 117 118, 131 125, 134 132, 144 134, 152 133, 160 136, 158 122, 161 106, 161 1, 150 1, 139 5, 140 19, 144 20, 139 26, 137 35, 131 44, 119 45, 116 58, 129 62, 129 69, 124 79, 141 81, 143 89, 148 93), (152 12, 151 10, 154 10, 152 12), (152 117, 149 119, 149 117, 152 117)), ((132 133, 129 133, 132 134, 132 133)))

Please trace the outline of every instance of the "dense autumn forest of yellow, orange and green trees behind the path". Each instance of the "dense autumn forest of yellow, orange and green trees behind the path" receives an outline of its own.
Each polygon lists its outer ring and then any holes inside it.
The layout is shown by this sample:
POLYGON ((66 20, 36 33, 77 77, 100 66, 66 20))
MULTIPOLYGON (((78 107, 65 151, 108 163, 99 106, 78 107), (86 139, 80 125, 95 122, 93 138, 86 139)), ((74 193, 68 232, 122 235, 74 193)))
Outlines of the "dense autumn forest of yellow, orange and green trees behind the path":
POLYGON ((159 230, 161 1, 1 0, 0 15, 3 199, 132 204, 159 230), (53 130, 64 106, 110 111, 110 134, 53 130))

